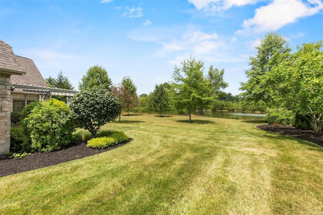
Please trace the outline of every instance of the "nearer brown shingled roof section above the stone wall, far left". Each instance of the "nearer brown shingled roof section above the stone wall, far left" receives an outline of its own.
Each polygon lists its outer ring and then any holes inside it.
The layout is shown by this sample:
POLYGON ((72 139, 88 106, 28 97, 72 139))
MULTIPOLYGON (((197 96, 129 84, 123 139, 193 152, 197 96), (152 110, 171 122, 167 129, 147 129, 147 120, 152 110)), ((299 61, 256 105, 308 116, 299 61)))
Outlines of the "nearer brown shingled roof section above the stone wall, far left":
POLYGON ((24 72, 12 47, 0 39, 0 71, 22 73, 24 72))

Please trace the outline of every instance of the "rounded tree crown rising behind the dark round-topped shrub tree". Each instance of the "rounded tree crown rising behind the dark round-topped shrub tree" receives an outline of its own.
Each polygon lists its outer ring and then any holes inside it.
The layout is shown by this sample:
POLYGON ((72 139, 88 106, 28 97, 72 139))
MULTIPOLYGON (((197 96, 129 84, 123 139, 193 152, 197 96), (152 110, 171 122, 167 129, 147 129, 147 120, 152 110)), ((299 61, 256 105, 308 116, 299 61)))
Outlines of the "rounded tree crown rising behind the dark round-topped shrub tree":
POLYGON ((88 69, 86 75, 83 75, 82 82, 79 82, 79 90, 109 89, 111 83, 111 79, 104 68, 93 66, 88 69))

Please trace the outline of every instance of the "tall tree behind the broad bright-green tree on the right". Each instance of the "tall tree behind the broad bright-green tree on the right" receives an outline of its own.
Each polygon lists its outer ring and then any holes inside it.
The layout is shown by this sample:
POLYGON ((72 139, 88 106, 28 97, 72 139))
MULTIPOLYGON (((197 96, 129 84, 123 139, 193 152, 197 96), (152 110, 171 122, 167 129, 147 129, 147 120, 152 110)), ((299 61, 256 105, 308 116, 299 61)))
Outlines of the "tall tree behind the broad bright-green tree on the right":
POLYGON ((248 81, 242 82, 240 89, 245 91, 242 96, 246 102, 260 102, 264 105, 271 94, 266 92, 261 79, 265 73, 271 72, 274 66, 289 57, 291 48, 285 37, 271 31, 261 39, 256 49, 256 56, 250 57, 251 68, 245 71, 248 81))

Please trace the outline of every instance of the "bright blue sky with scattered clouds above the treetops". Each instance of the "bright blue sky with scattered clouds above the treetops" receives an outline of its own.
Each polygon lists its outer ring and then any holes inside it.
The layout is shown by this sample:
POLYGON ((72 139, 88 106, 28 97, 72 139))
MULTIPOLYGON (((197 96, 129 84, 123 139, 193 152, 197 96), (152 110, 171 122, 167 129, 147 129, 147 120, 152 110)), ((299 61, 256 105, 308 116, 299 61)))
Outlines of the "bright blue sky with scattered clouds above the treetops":
POLYGON ((32 59, 44 78, 63 72, 77 87, 89 67, 113 83, 130 76, 138 94, 172 81, 190 56, 225 69, 239 94, 249 56, 271 30, 292 48, 323 39, 321 0, 1 0, 0 39, 32 59))

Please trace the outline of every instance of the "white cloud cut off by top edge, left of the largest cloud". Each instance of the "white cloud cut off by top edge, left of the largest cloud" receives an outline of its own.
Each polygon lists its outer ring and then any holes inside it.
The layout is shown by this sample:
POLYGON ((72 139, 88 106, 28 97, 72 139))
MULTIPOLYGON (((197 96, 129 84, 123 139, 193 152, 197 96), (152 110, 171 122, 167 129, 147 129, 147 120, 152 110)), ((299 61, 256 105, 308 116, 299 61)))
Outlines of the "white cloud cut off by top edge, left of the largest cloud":
POLYGON ((197 10, 205 11, 226 11, 232 7, 255 4, 265 0, 188 0, 197 10))

